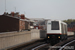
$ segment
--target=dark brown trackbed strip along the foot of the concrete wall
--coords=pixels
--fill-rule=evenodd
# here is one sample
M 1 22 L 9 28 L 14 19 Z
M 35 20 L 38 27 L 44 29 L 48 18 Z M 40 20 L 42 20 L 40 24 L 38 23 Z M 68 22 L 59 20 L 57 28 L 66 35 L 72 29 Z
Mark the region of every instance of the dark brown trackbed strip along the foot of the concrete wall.
M 19 44 L 16 47 L 14 46 L 12 48 L 9 48 L 8 50 L 29 50 L 32 47 L 34 47 L 34 45 L 36 46 L 36 44 L 38 45 L 41 44 L 40 42 L 41 40 L 43 39 L 31 40 L 31 41 Z

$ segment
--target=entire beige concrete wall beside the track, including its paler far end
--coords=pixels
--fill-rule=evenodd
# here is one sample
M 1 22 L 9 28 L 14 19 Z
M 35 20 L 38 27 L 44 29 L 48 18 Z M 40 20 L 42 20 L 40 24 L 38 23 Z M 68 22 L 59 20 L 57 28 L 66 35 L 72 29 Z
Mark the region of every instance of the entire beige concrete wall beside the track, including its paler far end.
M 43 33 L 43 36 L 40 36 Z M 0 50 L 16 47 L 19 44 L 29 42 L 31 40 L 38 40 L 41 37 L 44 37 L 46 34 L 42 30 L 31 30 L 31 31 L 22 31 L 22 32 L 7 32 L 0 34 Z

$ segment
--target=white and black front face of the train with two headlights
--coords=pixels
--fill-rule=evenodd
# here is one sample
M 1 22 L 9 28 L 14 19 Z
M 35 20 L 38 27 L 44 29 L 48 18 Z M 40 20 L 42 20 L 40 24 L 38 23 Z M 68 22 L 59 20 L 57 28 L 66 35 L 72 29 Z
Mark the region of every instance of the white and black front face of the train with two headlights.
M 61 39 L 60 21 L 47 22 L 47 42 L 56 43 Z

